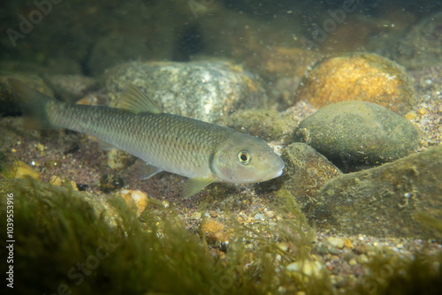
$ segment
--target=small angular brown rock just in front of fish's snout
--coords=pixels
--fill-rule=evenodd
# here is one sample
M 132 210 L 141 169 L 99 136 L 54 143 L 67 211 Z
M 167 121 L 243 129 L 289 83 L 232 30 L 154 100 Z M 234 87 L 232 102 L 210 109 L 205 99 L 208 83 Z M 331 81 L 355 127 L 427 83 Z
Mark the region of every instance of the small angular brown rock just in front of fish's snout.
M 282 189 L 293 194 L 301 208 L 309 204 L 324 183 L 342 175 L 324 155 L 305 143 L 296 142 L 286 147 L 281 158 L 286 168 L 284 174 L 275 181 Z

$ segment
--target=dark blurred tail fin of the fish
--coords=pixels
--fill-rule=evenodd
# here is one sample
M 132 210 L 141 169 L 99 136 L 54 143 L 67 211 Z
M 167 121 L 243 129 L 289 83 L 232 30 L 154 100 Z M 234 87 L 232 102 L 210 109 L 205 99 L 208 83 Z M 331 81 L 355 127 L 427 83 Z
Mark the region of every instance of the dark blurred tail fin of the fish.
M 27 84 L 18 79 L 8 79 L 8 82 L 14 92 L 20 109 L 25 115 L 25 124 L 27 127 L 34 129 L 53 128 L 48 119 L 46 106 L 48 102 L 54 99 L 50 96 L 43 95 L 41 92 L 35 90 L 33 87 L 27 86 Z

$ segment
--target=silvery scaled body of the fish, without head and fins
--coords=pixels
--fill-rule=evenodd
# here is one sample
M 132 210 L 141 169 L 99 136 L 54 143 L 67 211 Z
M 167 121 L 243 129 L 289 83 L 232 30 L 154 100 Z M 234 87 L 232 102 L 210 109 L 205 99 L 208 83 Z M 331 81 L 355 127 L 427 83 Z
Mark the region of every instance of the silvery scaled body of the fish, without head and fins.
M 133 114 L 127 110 L 59 102 L 50 103 L 46 110 L 51 114 L 52 125 L 87 133 L 162 170 L 186 177 L 207 175 L 210 155 L 234 132 L 166 113 Z

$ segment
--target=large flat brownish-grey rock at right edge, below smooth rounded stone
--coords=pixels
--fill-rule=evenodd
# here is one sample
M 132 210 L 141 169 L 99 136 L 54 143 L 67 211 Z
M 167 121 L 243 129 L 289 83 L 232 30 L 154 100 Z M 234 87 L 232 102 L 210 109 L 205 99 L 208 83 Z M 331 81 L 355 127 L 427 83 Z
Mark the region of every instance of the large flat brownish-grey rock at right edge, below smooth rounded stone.
M 442 147 L 331 179 L 305 208 L 321 229 L 348 235 L 436 238 L 421 220 L 442 212 Z

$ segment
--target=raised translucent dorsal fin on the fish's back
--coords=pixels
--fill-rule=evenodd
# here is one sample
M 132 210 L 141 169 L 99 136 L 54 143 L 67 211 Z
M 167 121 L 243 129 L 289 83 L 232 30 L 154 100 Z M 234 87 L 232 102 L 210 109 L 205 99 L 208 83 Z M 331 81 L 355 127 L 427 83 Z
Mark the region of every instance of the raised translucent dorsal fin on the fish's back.
M 140 88 L 131 84 L 126 88 L 118 103 L 118 108 L 123 110 L 130 110 L 135 114 L 141 112 L 148 112 L 152 114 L 159 114 L 161 111 L 156 108 L 154 102 L 150 100 L 148 95 L 141 92 Z

